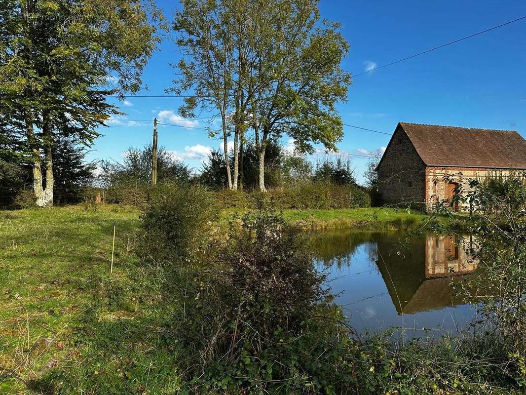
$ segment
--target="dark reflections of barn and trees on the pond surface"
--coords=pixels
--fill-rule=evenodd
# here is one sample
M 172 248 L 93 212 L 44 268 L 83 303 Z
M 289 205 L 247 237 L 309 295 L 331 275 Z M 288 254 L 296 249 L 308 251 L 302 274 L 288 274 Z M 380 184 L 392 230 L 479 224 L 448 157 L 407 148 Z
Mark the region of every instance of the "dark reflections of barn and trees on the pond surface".
M 325 267 L 350 267 L 353 255 L 362 246 L 372 267 L 386 284 L 398 313 L 414 313 L 462 303 L 450 288 L 451 281 L 477 268 L 466 264 L 466 253 L 455 248 L 450 236 L 412 236 L 400 243 L 398 232 L 318 232 L 311 235 L 311 248 Z

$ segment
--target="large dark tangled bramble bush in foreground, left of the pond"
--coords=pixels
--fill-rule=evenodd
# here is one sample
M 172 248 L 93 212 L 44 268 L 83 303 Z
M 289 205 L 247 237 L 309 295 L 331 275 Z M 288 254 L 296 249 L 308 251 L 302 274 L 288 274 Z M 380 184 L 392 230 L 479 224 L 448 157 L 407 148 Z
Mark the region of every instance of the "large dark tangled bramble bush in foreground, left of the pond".
M 228 242 L 194 276 L 178 330 L 193 391 L 320 392 L 352 380 L 335 365 L 338 350 L 326 352 L 350 341 L 346 328 L 313 318 L 334 315 L 321 308 L 325 276 L 281 216 L 261 209 L 232 221 Z

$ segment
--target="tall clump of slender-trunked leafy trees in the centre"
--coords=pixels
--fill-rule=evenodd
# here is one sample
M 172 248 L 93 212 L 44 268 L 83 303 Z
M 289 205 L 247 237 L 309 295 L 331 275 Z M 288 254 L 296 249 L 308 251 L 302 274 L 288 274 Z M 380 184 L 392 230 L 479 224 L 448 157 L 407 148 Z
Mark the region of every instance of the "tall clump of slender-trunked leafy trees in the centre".
M 177 65 L 174 90 L 195 94 L 180 113 L 219 111 L 229 187 L 238 185 L 239 145 L 249 127 L 261 190 L 270 139 L 285 133 L 302 151 L 311 150 L 311 142 L 335 149 L 342 136 L 335 104 L 345 100 L 350 83 L 339 67 L 348 45 L 337 24 L 319 21 L 317 0 L 185 0 L 175 19 L 187 59 Z

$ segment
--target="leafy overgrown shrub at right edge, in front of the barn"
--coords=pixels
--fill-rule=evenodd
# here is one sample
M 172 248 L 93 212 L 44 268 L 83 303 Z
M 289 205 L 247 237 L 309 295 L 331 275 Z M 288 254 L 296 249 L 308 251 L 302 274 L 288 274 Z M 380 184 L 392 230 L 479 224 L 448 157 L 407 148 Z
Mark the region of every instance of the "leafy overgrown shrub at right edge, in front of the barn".
M 525 366 L 526 354 L 526 185 L 522 173 L 494 175 L 471 180 L 467 188 L 453 197 L 468 204 L 470 215 L 463 232 L 434 224 L 435 231 L 456 232 L 460 248 L 466 249 L 479 266 L 479 274 L 470 277 L 460 289 L 466 299 L 477 305 L 479 317 L 498 333 L 510 356 Z M 456 218 L 444 201 L 435 215 Z M 469 292 L 477 290 L 477 292 Z M 525 371 L 526 373 L 526 371 Z M 523 383 L 524 384 L 524 383 Z

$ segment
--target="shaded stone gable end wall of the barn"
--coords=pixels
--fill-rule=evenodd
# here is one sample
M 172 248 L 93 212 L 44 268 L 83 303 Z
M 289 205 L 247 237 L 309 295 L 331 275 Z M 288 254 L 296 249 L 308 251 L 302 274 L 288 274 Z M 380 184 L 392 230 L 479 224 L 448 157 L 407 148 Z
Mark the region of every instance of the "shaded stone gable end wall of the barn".
M 378 167 L 378 192 L 383 204 L 420 208 L 426 202 L 425 166 L 406 132 L 398 127 Z

